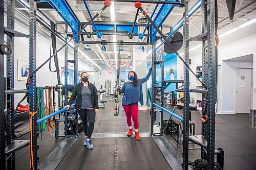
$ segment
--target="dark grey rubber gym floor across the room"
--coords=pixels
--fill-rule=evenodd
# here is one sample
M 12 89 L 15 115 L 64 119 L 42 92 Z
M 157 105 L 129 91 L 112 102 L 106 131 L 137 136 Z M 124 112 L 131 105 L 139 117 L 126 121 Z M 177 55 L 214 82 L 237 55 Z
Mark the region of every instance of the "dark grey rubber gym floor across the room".
M 105 109 L 100 109 L 96 115 L 95 134 L 124 134 L 126 132 L 126 117 L 122 107 L 119 116 L 113 116 L 114 102 L 108 102 Z M 172 107 L 165 108 L 172 110 Z M 140 132 L 145 136 L 150 133 L 150 115 L 148 110 L 139 111 Z M 180 112 L 176 112 L 180 115 Z M 164 119 L 169 115 L 165 113 Z M 200 113 L 191 113 L 192 121 L 196 123 L 196 135 L 201 134 Z M 215 146 L 225 150 L 225 169 L 256 169 L 256 128 L 249 125 L 249 114 L 217 115 Z M 158 149 L 152 137 L 142 137 L 137 141 L 134 137 L 124 138 L 93 138 L 94 148 L 88 150 L 83 145 L 83 134 L 75 140 L 73 146 L 59 164 L 56 160 L 60 155 L 54 151 L 67 142 L 67 139 L 55 139 L 54 131 L 46 131 L 37 139 L 39 144 L 38 165 L 40 169 L 171 169 L 164 156 Z M 171 141 L 167 136 L 164 136 Z M 19 139 L 28 139 L 26 134 Z M 172 152 L 181 151 L 174 148 Z M 55 149 L 56 148 L 56 149 Z M 29 169 L 29 147 L 16 152 L 16 168 Z M 62 153 L 63 154 L 63 153 Z M 189 150 L 189 159 L 194 161 L 200 158 L 200 150 Z M 52 160 L 52 161 L 51 161 Z M 52 165 L 54 164 L 54 165 Z

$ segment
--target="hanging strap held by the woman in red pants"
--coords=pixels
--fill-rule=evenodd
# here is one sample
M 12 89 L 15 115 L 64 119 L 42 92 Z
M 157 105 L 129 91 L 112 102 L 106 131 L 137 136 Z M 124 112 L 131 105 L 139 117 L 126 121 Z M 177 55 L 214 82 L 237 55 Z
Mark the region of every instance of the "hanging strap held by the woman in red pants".
M 121 65 L 121 55 L 120 55 L 120 47 L 121 47 L 121 41 L 119 41 L 119 52 L 118 52 L 118 59 L 117 59 L 117 81 L 116 86 L 119 85 L 119 77 L 120 77 L 120 65 Z M 119 89 L 116 89 L 115 91 L 115 107 L 114 107 L 114 116 L 118 116 L 119 114 Z

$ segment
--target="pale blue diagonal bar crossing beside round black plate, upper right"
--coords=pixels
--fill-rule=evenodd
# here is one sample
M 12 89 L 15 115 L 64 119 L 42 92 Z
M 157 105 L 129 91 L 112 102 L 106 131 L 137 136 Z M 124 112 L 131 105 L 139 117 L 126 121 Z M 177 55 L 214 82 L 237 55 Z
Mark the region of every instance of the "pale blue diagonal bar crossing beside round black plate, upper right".
M 198 2 L 188 11 L 188 17 L 193 15 L 200 7 L 202 6 L 201 0 L 198 0 Z M 181 27 L 183 27 L 183 18 L 181 18 L 176 25 L 173 27 L 173 31 L 166 37 L 166 39 L 169 39 L 171 36 L 173 36 Z M 158 48 L 165 43 L 165 40 L 163 40 L 156 48 L 152 51 L 152 53 L 156 52 Z

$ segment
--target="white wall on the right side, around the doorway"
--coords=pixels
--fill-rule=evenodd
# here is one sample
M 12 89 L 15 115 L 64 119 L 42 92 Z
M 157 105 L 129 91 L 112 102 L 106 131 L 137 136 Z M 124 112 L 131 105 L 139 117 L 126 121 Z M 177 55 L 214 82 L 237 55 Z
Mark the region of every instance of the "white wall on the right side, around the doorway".
M 253 11 L 242 18 L 252 19 L 255 18 L 256 11 Z M 228 30 L 236 28 L 245 20 L 237 20 L 230 23 L 228 26 L 220 29 L 218 34 L 221 35 Z M 253 69 L 253 85 L 256 85 L 256 23 L 252 23 L 250 26 L 239 29 L 227 36 L 220 38 L 220 45 L 218 47 L 218 64 L 221 65 L 218 70 L 218 113 L 230 114 L 234 113 L 234 74 L 236 67 L 247 67 Z M 200 43 L 200 42 L 199 42 Z M 199 44 L 198 43 L 198 44 Z M 190 52 L 189 58 L 191 58 L 191 69 L 196 70 L 197 65 L 202 64 L 201 48 Z M 253 63 L 248 62 L 233 62 L 230 66 L 224 60 L 237 58 L 246 55 L 253 55 Z M 183 75 L 183 63 L 178 59 L 178 78 Z M 190 88 L 195 88 L 196 78 L 190 73 Z M 191 96 L 195 95 L 193 93 Z M 256 108 L 256 91 L 252 91 L 252 108 Z

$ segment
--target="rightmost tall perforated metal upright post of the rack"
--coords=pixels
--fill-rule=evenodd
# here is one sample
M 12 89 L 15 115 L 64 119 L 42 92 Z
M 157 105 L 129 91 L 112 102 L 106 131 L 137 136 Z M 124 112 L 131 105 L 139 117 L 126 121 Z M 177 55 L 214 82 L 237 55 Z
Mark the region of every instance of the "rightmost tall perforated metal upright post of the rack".
M 215 160 L 215 104 L 216 104 L 216 47 L 215 47 L 215 0 L 207 1 L 207 82 L 208 117 L 207 125 L 207 162 L 208 169 L 214 169 Z

